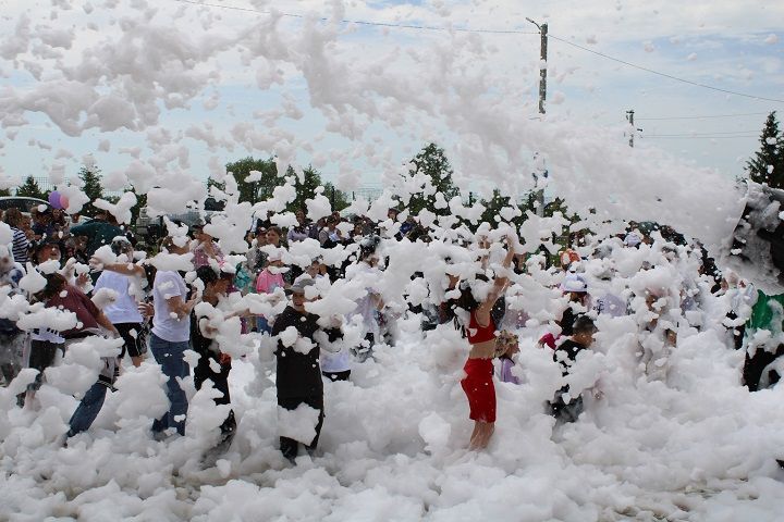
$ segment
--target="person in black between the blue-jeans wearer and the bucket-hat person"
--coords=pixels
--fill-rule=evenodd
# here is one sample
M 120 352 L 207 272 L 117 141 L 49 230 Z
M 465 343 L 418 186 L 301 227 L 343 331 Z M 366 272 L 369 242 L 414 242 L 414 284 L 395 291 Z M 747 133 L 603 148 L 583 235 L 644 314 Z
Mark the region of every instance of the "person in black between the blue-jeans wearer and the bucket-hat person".
M 226 272 L 218 274 L 215 269 L 206 265 L 200 266 L 196 271 L 196 275 L 205 285 L 201 300 L 217 307 L 221 296 L 225 296 L 229 291 L 233 279 L 232 274 Z M 207 324 L 207 319 L 199 318 L 195 311 L 192 313 L 191 344 L 194 351 L 200 356 L 194 369 L 194 385 L 196 389 L 201 389 L 204 383 L 210 381 L 212 386 L 222 394 L 221 397 L 215 398 L 216 405 L 231 405 L 231 396 L 229 395 L 231 357 L 220 351 L 218 343 L 212 338 L 215 328 Z M 221 424 L 220 430 L 221 437 L 218 447 L 228 447 L 236 430 L 234 410 L 229 411 L 229 415 Z

